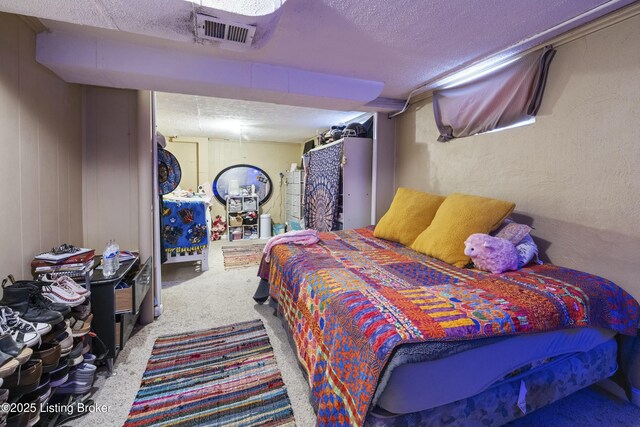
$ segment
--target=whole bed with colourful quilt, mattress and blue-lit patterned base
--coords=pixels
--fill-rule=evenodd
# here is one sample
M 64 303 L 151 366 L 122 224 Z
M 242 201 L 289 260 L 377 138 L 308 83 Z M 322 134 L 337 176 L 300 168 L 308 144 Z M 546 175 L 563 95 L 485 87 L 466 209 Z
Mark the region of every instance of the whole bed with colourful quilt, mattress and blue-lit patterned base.
M 276 246 L 261 284 L 311 388 L 317 425 L 501 425 L 611 376 L 638 303 L 536 265 L 457 268 L 371 227 Z

